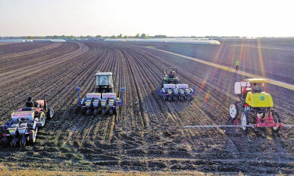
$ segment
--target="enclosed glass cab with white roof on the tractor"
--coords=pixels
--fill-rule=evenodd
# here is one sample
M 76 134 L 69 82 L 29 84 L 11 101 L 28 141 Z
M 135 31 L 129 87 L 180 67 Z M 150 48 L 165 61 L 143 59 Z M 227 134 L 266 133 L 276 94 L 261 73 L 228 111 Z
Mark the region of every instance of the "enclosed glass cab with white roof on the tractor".
M 94 75 L 96 77 L 95 93 L 114 92 L 113 78 L 111 72 L 100 72 Z

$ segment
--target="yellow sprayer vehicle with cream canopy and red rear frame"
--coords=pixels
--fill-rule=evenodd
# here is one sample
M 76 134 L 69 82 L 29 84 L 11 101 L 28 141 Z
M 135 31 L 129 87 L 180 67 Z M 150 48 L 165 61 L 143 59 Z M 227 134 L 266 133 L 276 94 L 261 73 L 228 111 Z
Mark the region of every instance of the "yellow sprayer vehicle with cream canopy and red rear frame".
M 273 100 L 267 93 L 267 82 L 268 80 L 262 78 L 250 78 L 235 83 L 235 96 L 239 100 L 230 104 L 229 114 L 231 120 L 238 123 L 236 119 L 241 108 L 241 125 L 244 131 L 248 130 L 250 113 L 254 113 L 257 121 L 254 127 L 272 127 L 273 131 L 278 131 L 283 126 L 278 112 L 271 109 Z M 253 85 L 250 86 L 250 83 Z

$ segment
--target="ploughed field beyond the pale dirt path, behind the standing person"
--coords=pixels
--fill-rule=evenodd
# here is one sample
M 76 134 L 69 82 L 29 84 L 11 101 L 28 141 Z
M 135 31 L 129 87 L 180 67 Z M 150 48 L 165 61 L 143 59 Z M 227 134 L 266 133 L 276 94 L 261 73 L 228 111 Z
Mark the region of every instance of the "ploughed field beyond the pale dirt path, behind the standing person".
M 160 42 L 119 42 L 119 44 L 153 46 L 233 69 L 238 59 L 240 71 L 294 84 L 293 39 L 224 39 L 219 41 L 220 45 Z

